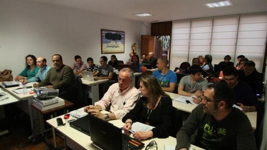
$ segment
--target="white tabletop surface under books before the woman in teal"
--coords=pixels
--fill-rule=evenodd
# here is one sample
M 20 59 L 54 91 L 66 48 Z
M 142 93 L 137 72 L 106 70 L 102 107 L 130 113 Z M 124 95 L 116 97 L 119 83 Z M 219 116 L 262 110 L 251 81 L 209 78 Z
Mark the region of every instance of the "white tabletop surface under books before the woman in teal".
M 35 83 L 35 82 L 32 82 L 32 84 L 29 84 L 28 86 L 32 86 L 33 83 Z M 23 94 L 23 93 L 17 94 L 17 93 L 15 93 L 15 92 L 12 91 L 12 90 L 15 90 L 17 88 L 22 88 L 22 85 L 11 87 L 11 88 L 5 88 L 2 85 L 2 82 L 0 82 L 0 86 L 2 86 L 8 93 L 10 93 L 11 95 L 15 96 L 16 98 L 19 98 L 20 100 L 29 99 L 29 98 L 32 98 L 34 95 L 36 95 L 35 93 L 29 94 L 29 92 L 27 94 Z

